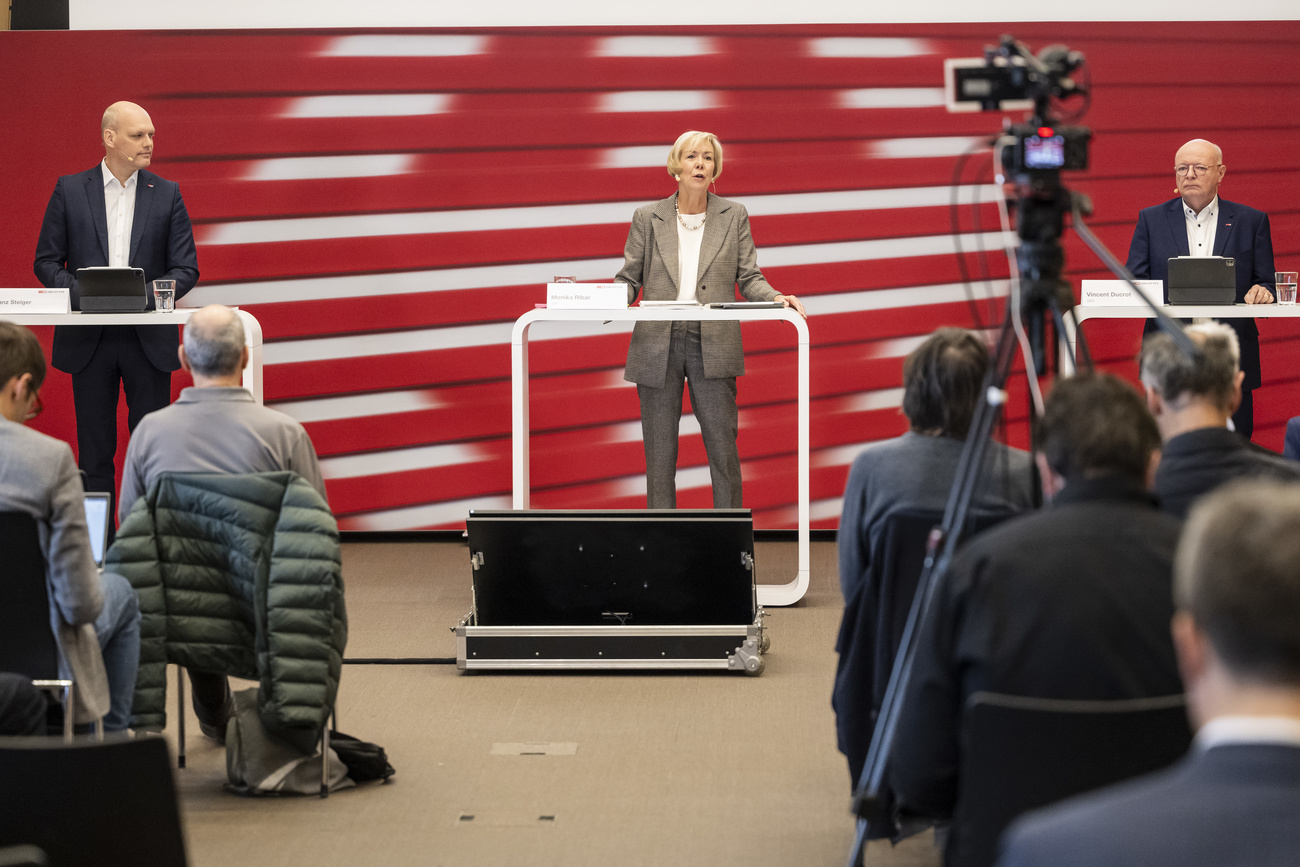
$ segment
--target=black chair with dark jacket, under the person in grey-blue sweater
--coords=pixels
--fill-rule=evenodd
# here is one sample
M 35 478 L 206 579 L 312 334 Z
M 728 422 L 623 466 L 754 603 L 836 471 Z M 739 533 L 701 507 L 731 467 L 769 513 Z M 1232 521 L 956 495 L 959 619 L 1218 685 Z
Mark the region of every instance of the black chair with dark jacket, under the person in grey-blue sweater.
M 1002 512 L 972 515 L 967 521 L 971 528 L 967 537 L 1008 517 L 1010 515 Z M 868 573 L 845 601 L 835 643 L 840 662 L 831 705 L 840 751 L 849 759 L 854 789 L 867 759 L 916 582 L 926 565 L 926 543 L 942 520 L 942 512 L 930 510 L 900 510 L 888 515 L 872 543 Z M 841 528 L 840 532 L 854 530 Z

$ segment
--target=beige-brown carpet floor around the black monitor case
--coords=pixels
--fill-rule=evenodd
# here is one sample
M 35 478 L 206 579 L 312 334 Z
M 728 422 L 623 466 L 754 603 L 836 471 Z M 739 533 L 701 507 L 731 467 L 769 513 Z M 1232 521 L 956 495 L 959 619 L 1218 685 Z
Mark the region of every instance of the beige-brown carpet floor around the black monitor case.
M 784 582 L 796 558 L 793 542 L 760 543 L 759 580 Z M 348 543 L 343 560 L 350 658 L 455 655 L 464 545 Z M 339 728 L 382 744 L 398 773 L 325 801 L 224 792 L 225 753 L 191 718 L 177 772 L 190 863 L 842 864 L 841 604 L 835 546 L 814 543 L 809 594 L 770 608 L 760 677 L 347 666 Z M 939 853 L 924 835 L 872 844 L 867 863 L 932 867 Z

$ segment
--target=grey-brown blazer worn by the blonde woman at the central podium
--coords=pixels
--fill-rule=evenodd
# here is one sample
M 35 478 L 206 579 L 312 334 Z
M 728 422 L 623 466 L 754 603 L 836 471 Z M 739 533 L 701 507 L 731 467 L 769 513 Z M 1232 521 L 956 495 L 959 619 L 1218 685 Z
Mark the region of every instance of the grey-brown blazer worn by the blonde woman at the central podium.
M 645 300 L 677 298 L 680 268 L 677 263 L 677 217 L 673 196 L 642 205 L 632 214 L 632 229 L 623 250 L 623 270 L 616 281 L 628 285 L 628 304 L 644 290 Z M 749 231 L 745 205 L 708 194 L 705 211 L 705 237 L 699 246 L 699 285 L 696 296 L 701 304 L 736 300 L 736 286 L 751 302 L 770 302 L 780 292 L 772 289 L 758 269 L 758 251 Z M 668 339 L 672 322 L 637 322 L 628 346 L 628 364 L 623 378 L 637 385 L 662 389 L 668 374 Z M 701 322 L 699 341 L 705 356 L 705 376 L 734 377 L 745 373 L 745 352 L 740 341 L 740 322 Z

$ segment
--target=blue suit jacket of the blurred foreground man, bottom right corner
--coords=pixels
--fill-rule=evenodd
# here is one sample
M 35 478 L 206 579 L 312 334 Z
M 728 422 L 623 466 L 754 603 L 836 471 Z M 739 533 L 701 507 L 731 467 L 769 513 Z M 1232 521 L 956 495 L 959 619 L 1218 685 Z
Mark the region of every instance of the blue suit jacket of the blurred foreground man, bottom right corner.
M 1300 853 L 1300 746 L 1192 747 L 1167 771 L 1027 814 L 1001 867 L 1282 867 Z

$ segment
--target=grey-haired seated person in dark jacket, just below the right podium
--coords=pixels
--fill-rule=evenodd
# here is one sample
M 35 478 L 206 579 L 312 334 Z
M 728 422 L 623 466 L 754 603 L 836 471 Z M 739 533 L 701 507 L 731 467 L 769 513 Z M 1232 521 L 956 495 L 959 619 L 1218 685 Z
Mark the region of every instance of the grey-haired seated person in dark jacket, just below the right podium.
M 1253 446 L 1227 429 L 1242 399 L 1236 333 L 1222 322 L 1190 325 L 1200 350 L 1188 357 L 1167 334 L 1143 341 L 1141 382 L 1147 406 L 1165 441 L 1156 497 L 1179 517 L 1192 502 L 1223 482 L 1245 476 L 1300 478 L 1300 465 Z

